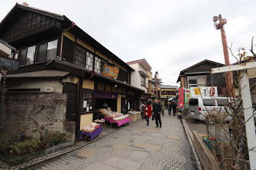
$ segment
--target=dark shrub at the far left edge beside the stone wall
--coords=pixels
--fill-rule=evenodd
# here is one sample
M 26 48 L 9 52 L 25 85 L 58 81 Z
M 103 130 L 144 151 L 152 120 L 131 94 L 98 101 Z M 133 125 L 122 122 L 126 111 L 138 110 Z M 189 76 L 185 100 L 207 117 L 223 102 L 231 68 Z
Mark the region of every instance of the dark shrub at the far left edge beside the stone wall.
M 20 137 L 17 134 L 0 134 L 0 153 L 8 153 L 11 145 L 19 140 Z

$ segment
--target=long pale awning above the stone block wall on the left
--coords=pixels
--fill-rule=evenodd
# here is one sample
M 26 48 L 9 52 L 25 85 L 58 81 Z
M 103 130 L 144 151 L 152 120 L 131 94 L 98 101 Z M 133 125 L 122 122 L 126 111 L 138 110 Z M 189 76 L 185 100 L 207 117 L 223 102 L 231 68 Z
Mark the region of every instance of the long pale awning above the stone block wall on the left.
M 7 78 L 35 78 L 35 77 L 64 77 L 70 72 L 63 72 L 60 70 L 44 70 L 38 72 L 28 72 L 28 73 L 15 73 L 11 75 L 6 75 Z

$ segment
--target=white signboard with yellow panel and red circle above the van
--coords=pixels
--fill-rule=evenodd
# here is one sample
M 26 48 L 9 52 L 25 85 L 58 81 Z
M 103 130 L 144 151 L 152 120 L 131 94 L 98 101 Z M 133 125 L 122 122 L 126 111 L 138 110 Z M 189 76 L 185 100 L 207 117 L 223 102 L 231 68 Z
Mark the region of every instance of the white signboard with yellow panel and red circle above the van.
M 217 87 L 190 88 L 191 97 L 218 97 Z

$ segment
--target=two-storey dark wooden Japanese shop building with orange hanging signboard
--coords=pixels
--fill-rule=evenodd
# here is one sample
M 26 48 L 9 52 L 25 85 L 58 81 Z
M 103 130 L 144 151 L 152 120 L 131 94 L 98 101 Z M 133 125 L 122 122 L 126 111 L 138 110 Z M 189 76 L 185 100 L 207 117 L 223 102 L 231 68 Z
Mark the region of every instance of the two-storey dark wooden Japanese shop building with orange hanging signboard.
M 19 50 L 8 92 L 67 93 L 65 119 L 77 131 L 103 102 L 118 112 L 139 109 L 144 91 L 131 86 L 131 66 L 65 15 L 17 3 L 0 23 L 0 39 Z

